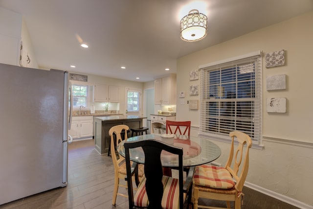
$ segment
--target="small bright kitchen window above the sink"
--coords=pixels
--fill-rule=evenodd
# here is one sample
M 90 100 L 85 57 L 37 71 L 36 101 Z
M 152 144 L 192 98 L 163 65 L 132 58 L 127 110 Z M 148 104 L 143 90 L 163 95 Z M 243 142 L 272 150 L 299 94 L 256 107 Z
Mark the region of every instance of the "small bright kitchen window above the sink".
M 88 101 L 88 86 L 81 84 L 72 84 L 73 89 L 73 108 L 80 106 L 87 107 Z

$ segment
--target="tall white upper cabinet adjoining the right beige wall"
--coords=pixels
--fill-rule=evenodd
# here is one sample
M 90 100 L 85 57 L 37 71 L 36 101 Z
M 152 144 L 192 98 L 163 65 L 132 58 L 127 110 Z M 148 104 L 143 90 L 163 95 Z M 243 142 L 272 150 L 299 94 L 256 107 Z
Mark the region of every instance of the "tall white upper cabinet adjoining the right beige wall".
M 155 104 L 176 105 L 176 74 L 155 80 Z

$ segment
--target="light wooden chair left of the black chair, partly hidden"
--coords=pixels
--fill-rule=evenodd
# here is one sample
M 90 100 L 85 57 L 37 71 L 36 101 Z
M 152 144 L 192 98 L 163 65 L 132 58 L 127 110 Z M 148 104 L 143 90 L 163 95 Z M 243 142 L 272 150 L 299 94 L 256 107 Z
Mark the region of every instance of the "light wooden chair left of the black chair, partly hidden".
M 127 131 L 129 127 L 127 125 L 116 125 L 110 128 L 109 135 L 111 136 L 111 156 L 114 165 L 114 189 L 113 189 L 113 198 L 112 198 L 112 205 L 115 205 L 117 195 L 128 197 L 125 194 L 118 193 L 119 186 L 127 188 L 127 182 L 125 182 L 126 176 L 126 164 L 125 158 L 115 153 L 115 147 L 122 141 L 122 135 L 124 135 L 124 139 L 127 140 Z M 115 146 L 114 146 L 114 135 L 115 138 Z M 136 167 L 137 170 L 134 170 L 134 175 L 132 176 L 132 180 L 136 181 L 136 184 L 139 183 L 140 179 L 142 179 L 144 175 L 144 168 L 143 165 L 139 165 Z M 120 184 L 120 180 L 124 181 L 125 184 Z

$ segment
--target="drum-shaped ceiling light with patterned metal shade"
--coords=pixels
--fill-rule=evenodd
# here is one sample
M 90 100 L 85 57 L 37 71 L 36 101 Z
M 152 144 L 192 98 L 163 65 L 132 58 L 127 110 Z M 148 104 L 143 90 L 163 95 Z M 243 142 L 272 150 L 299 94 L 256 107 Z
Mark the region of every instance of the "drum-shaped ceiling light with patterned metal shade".
M 207 17 L 199 10 L 190 10 L 189 14 L 180 20 L 180 38 L 187 42 L 203 39 L 207 34 Z

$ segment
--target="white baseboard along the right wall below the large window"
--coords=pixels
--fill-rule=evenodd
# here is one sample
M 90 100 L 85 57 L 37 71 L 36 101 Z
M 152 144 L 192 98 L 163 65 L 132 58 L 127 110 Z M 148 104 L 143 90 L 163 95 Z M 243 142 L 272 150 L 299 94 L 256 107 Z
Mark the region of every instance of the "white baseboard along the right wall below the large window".
M 285 195 L 282 195 L 282 194 L 279 194 L 277 192 L 271 191 L 271 190 L 269 190 L 267 188 L 254 185 L 254 184 L 249 183 L 249 182 L 245 182 L 245 186 L 249 187 L 249 188 L 251 188 L 253 190 L 256 190 L 258 192 L 261 192 L 261 193 L 263 193 L 265 195 L 268 195 L 270 197 L 273 197 L 273 198 L 275 198 L 277 200 L 280 200 L 280 201 L 283 201 L 285 203 L 288 203 L 288 204 L 290 204 L 292 206 L 295 206 L 295 207 L 297 207 L 299 209 L 313 209 L 313 206 L 307 205 L 307 204 L 305 204 L 303 202 L 300 202 L 298 200 L 292 199 L 291 197 L 287 197 Z

